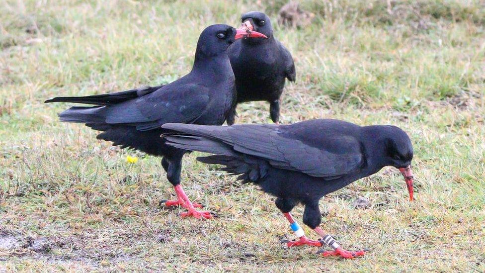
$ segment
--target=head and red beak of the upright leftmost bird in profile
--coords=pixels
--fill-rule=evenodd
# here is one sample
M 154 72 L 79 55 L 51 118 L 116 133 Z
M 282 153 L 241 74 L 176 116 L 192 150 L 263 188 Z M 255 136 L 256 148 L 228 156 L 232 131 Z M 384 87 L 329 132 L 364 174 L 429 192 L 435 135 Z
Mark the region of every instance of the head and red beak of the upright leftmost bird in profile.
M 216 56 L 226 51 L 235 40 L 241 38 L 267 38 L 265 35 L 248 30 L 235 29 L 225 24 L 216 24 L 206 27 L 199 36 L 197 52 L 206 56 Z

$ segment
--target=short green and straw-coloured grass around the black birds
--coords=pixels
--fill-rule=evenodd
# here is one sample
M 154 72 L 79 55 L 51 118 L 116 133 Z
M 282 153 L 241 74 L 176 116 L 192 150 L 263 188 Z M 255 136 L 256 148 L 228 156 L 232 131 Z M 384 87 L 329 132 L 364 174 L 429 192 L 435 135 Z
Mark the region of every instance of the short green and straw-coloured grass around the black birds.
M 172 194 L 160 159 L 97 141 L 57 120 L 66 105 L 43 104 L 173 81 L 205 26 L 237 25 L 253 9 L 275 24 L 285 2 L 0 0 L 0 272 L 485 271 L 481 1 L 304 0 L 311 25 L 275 25 L 297 68 L 283 123 L 395 124 L 413 140 L 415 202 L 385 169 L 320 203 L 323 229 L 370 249 L 363 259 L 285 249 L 280 238 L 293 235 L 273 198 L 197 154 L 182 184 L 219 218 L 182 220 L 160 206 Z M 237 122 L 270 122 L 267 110 L 240 105 Z M 353 208 L 359 196 L 370 208 Z

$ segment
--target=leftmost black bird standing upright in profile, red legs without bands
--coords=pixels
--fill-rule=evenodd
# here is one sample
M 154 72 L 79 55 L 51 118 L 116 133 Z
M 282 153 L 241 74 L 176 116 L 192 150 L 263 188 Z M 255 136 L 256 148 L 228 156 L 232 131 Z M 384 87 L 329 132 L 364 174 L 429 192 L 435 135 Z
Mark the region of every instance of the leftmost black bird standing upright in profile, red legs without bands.
M 167 122 L 221 125 L 236 103 L 234 73 L 228 47 L 240 38 L 265 37 L 256 31 L 229 25 L 211 25 L 199 36 L 192 71 L 168 85 L 84 97 L 56 97 L 46 102 L 95 104 L 71 107 L 59 114 L 62 121 L 85 123 L 103 131 L 97 139 L 112 141 L 122 148 L 133 148 L 161 156 L 167 179 L 178 200 L 165 205 L 181 205 L 188 212 L 181 216 L 210 218 L 209 212 L 196 211 L 180 186 L 182 156 L 187 152 L 165 145 L 160 134 Z

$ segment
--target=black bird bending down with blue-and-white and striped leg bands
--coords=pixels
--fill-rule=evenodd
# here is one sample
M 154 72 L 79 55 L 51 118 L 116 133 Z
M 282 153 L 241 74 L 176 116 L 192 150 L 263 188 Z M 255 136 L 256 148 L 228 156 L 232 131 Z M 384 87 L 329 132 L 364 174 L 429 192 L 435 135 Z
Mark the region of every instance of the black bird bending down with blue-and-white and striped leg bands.
M 167 145 L 215 154 L 197 159 L 224 165 L 222 170 L 240 175 L 243 182 L 253 182 L 276 196 L 276 206 L 299 238 L 288 242 L 289 247 L 325 243 L 334 250 L 324 251 L 323 256 L 364 255 L 363 251 L 342 249 L 319 227 L 319 200 L 385 166 L 401 171 L 412 200 L 412 145 L 406 133 L 396 126 L 361 127 L 340 120 L 317 119 L 279 126 L 167 123 L 162 128 L 175 131 L 164 135 Z M 303 223 L 322 237 L 319 241 L 307 239 L 291 216 L 290 211 L 298 203 L 305 205 Z

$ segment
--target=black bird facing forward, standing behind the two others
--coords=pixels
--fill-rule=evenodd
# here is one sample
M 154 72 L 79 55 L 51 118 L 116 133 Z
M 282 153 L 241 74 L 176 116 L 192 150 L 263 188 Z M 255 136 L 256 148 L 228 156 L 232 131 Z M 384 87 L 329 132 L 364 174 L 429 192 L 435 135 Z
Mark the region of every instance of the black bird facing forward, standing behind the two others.
M 295 81 L 295 64 L 290 52 L 273 36 L 269 17 L 259 11 L 251 11 L 241 17 L 242 27 L 263 33 L 268 39 L 244 39 L 229 49 L 229 58 L 236 76 L 238 103 L 265 100 L 274 123 L 279 123 L 280 96 L 285 79 Z M 236 111 L 228 124 L 234 123 Z

